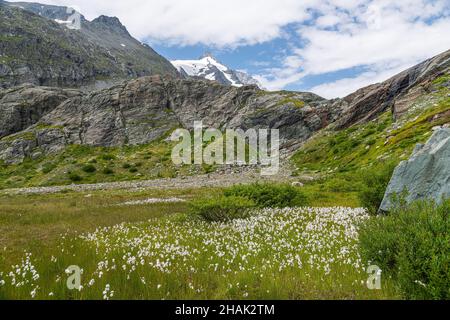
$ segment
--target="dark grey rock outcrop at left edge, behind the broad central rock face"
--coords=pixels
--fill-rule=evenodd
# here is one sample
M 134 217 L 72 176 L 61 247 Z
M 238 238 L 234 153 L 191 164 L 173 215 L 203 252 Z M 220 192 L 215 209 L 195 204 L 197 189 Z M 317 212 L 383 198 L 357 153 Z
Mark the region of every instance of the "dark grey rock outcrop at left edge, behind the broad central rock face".
M 30 84 L 0 89 L 0 138 L 28 128 L 61 102 L 80 94 L 77 90 L 35 87 Z

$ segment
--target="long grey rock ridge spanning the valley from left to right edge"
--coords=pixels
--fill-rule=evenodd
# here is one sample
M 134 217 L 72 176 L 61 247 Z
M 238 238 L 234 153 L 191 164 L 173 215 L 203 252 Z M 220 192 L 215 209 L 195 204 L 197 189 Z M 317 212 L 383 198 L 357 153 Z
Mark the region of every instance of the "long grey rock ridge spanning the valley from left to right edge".
M 7 115 L 3 118 L 14 118 L 7 121 L 15 124 L 4 130 L 3 135 L 9 135 L 0 140 L 0 159 L 17 163 L 33 154 L 48 154 L 72 144 L 146 144 L 174 128 L 191 128 L 199 120 L 205 126 L 222 129 L 280 129 L 282 148 L 293 151 L 328 126 L 341 129 L 365 123 L 389 108 L 399 118 L 412 106 L 407 102 L 417 100 L 411 95 L 432 91 L 433 81 L 448 75 L 449 56 L 447 51 L 384 83 L 333 101 L 310 93 L 271 93 L 256 86 L 238 88 L 170 76 L 143 77 L 84 96 L 29 86 L 2 91 L 0 97 L 5 102 L 0 110 Z M 54 99 L 56 103 L 39 109 L 42 92 L 54 94 L 55 90 L 68 99 L 57 106 L 64 98 Z M 19 107 L 14 97 L 20 97 Z M 34 118 L 24 111 L 30 106 L 37 109 Z

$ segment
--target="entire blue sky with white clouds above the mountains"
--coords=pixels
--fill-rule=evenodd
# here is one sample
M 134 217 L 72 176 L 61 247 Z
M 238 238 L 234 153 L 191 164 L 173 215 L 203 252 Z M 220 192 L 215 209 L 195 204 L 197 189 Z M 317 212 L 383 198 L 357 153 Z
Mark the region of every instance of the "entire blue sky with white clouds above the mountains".
M 170 60 L 213 53 L 270 90 L 342 97 L 450 49 L 450 0 L 42 0 L 117 16 Z

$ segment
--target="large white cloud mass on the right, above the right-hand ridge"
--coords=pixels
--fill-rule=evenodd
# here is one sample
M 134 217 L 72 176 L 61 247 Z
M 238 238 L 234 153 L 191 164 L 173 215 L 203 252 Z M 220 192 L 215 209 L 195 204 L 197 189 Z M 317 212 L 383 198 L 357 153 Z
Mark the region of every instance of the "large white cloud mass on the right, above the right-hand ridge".
M 280 68 L 259 75 L 265 87 L 280 89 L 308 75 L 365 69 L 353 78 L 312 88 L 328 98 L 343 96 L 450 48 L 447 0 L 373 0 L 355 4 L 350 10 L 328 7 L 319 12 L 324 15 L 316 23 L 298 30 L 306 44 L 286 56 Z

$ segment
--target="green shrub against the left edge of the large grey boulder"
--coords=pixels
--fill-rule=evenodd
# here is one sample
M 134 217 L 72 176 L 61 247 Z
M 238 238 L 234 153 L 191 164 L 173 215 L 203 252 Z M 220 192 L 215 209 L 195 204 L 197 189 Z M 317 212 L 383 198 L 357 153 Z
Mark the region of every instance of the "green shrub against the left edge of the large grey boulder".
M 371 214 L 378 212 L 395 166 L 395 163 L 390 162 L 361 171 L 362 185 L 358 198 Z

